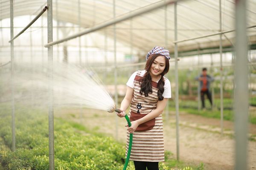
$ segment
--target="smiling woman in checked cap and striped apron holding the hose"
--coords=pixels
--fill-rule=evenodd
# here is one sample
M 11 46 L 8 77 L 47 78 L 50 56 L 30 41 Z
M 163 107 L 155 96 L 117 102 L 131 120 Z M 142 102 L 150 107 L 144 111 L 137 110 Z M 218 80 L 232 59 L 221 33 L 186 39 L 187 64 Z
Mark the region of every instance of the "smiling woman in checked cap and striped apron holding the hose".
M 133 143 L 130 160 L 135 170 L 158 170 L 158 162 L 164 161 L 162 112 L 168 98 L 171 98 L 171 85 L 166 77 L 169 71 L 169 51 L 154 47 L 146 55 L 145 70 L 136 71 L 126 83 L 127 91 L 117 116 L 125 116 L 130 105 L 131 127 L 127 128 L 126 156 L 130 133 Z

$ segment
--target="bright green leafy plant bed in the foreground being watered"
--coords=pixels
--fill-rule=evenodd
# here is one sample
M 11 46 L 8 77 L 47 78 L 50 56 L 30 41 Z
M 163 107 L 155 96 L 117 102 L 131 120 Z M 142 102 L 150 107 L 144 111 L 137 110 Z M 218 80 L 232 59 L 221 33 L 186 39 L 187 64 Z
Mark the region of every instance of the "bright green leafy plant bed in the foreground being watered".
M 11 105 L 0 104 L 0 161 L 6 170 L 48 170 L 47 111 L 18 106 L 15 110 L 16 151 L 12 146 Z M 125 161 L 125 144 L 113 138 L 90 132 L 86 127 L 54 119 L 56 170 L 121 170 Z M 168 155 L 168 154 L 167 154 Z M 160 170 L 180 167 L 166 156 Z M 184 166 L 185 167 L 185 166 Z M 127 170 L 134 170 L 132 161 Z M 190 170 L 190 169 L 189 169 Z

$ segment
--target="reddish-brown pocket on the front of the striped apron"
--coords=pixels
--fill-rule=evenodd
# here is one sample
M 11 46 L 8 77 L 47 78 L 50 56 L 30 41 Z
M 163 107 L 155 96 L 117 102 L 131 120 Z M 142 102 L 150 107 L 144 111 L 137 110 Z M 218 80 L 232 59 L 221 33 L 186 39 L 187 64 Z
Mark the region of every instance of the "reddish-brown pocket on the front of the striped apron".
M 146 115 L 147 114 L 140 114 L 140 113 L 135 113 L 135 112 L 131 111 L 130 120 L 132 122 L 132 121 L 138 120 Z M 151 129 L 153 129 L 155 122 L 156 122 L 156 118 L 151 119 L 148 122 L 144 122 L 144 123 L 140 124 L 135 131 L 151 130 Z

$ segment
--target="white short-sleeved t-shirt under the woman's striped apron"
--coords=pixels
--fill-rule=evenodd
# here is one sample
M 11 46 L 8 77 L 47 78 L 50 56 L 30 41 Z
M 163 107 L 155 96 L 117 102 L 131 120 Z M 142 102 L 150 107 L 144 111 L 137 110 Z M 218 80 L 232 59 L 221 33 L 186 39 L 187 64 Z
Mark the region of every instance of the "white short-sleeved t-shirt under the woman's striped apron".
M 134 88 L 134 79 L 137 75 L 138 71 L 135 71 L 131 77 L 128 79 L 128 82 L 126 83 L 126 85 L 128 85 L 131 88 Z M 145 70 L 141 71 L 140 76 L 143 77 L 143 75 L 145 74 Z M 157 80 L 158 82 L 159 80 Z M 172 90 L 171 90 L 171 83 L 169 81 L 169 79 L 166 79 L 164 82 L 164 91 L 163 91 L 163 98 L 171 98 L 172 97 Z

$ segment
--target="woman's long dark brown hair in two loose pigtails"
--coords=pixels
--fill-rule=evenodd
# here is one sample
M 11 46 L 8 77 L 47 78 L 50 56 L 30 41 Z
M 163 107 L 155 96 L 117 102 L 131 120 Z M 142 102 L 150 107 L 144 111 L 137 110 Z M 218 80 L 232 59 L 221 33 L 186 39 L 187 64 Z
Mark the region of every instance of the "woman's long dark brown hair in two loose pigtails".
M 149 74 L 149 71 L 150 71 L 150 68 L 151 68 L 151 65 L 152 63 L 154 62 L 154 60 L 158 57 L 158 56 L 163 56 L 161 54 L 151 54 L 149 57 L 148 57 L 148 60 L 146 62 L 146 65 L 145 65 L 145 70 L 146 70 L 146 73 L 144 74 L 143 78 L 142 78 L 142 83 L 140 85 L 140 94 L 142 95 L 143 92 L 144 92 L 144 95 L 145 97 L 148 96 L 148 93 L 152 93 L 152 85 L 151 85 L 151 76 Z M 163 100 L 163 91 L 164 91 L 164 79 L 163 79 L 163 76 L 169 71 L 169 59 L 167 59 L 165 56 L 165 61 L 166 61 L 166 66 L 163 70 L 163 72 L 161 73 L 161 79 L 159 80 L 159 82 L 157 83 L 157 88 L 158 88 L 158 91 L 157 91 L 157 96 L 158 96 L 158 99 L 159 100 Z

